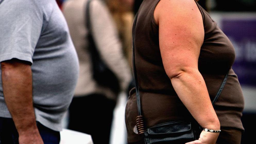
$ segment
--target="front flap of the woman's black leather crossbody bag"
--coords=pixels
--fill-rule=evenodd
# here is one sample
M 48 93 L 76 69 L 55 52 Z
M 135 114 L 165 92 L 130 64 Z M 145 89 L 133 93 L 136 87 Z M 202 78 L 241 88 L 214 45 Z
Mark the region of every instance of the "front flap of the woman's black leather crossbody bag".
M 190 122 L 169 122 L 153 126 L 147 129 L 150 135 L 155 134 L 181 134 L 191 131 Z

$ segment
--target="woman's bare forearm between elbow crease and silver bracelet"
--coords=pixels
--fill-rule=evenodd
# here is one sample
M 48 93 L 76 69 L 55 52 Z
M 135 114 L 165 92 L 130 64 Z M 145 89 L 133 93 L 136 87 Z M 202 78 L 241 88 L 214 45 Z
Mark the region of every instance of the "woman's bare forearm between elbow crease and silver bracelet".
M 206 84 L 198 70 L 180 71 L 171 82 L 178 97 L 203 128 L 220 129 Z

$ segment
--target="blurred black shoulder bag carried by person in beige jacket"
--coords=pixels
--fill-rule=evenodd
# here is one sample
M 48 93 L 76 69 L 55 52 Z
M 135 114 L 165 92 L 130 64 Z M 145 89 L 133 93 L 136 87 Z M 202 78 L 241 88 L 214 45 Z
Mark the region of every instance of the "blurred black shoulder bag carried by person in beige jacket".
M 90 24 L 90 2 L 86 3 L 86 27 L 88 29 L 88 41 L 89 41 L 89 51 L 91 54 L 93 78 L 97 81 L 100 86 L 110 88 L 115 95 L 120 92 L 120 84 L 116 75 L 108 68 L 108 66 L 101 59 L 101 56 L 95 45 L 95 41 L 92 37 L 92 30 Z

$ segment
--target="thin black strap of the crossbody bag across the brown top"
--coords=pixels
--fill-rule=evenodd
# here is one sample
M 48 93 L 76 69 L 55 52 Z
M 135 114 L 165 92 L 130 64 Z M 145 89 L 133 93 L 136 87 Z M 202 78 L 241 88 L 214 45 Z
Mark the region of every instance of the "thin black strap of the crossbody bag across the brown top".
M 140 90 L 139 90 L 139 83 L 138 83 L 138 76 L 137 76 L 137 71 L 136 71 L 136 66 L 135 66 L 135 47 L 134 47 L 134 38 L 135 38 L 135 28 L 136 28 L 136 22 L 137 22 L 137 14 L 134 18 L 134 22 L 133 22 L 133 27 L 132 27 L 132 39 L 133 39 L 133 75 L 134 75 L 134 80 L 135 80 L 135 84 L 136 84 L 136 98 L 137 98 L 137 107 L 138 107 L 138 112 L 139 112 L 139 116 L 142 115 L 141 113 L 141 102 L 140 102 Z M 223 80 L 223 82 L 221 83 L 221 86 L 219 88 L 219 91 L 217 92 L 217 95 L 215 96 L 214 100 L 212 100 L 212 105 L 214 106 L 214 104 L 216 103 L 217 99 L 220 96 L 221 91 L 223 90 L 227 78 L 228 78 L 228 73 L 229 70 L 227 72 L 227 74 L 225 75 L 225 78 Z

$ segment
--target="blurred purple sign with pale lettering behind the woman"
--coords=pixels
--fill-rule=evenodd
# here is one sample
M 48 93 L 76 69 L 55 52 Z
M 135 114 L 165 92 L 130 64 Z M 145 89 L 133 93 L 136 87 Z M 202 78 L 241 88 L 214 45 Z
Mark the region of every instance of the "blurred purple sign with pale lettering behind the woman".
M 233 69 L 240 83 L 256 86 L 256 19 L 223 19 L 222 30 L 235 47 Z

